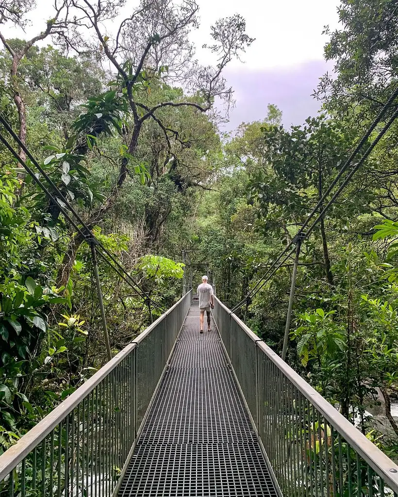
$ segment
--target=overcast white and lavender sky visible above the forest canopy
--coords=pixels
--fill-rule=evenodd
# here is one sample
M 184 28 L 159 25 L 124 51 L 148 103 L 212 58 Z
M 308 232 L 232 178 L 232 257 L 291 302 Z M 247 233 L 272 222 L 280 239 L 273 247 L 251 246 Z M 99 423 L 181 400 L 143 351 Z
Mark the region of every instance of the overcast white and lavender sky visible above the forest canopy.
M 227 130 L 242 121 L 263 119 L 268 103 L 282 110 L 285 126 L 301 124 L 317 113 L 319 102 L 311 93 L 318 78 L 331 69 L 323 60 L 327 38 L 321 33 L 325 24 L 337 27 L 338 0 L 197 1 L 201 26 L 192 33 L 192 40 L 199 61 L 208 63 L 208 55 L 200 47 L 210 41 L 209 27 L 220 17 L 238 12 L 246 19 L 247 34 L 256 39 L 243 56 L 244 64 L 234 61 L 225 73 L 236 99 Z M 41 31 L 49 16 L 50 0 L 36 3 L 28 35 Z M 6 36 L 22 37 L 23 33 L 8 29 Z

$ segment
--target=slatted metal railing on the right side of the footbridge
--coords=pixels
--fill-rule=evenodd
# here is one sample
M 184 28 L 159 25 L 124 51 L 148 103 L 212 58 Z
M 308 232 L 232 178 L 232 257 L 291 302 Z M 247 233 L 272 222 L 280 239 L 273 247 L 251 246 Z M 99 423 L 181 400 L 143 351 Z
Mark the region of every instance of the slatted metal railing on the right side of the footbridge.
M 214 317 L 289 497 L 397 497 L 398 466 L 216 299 Z

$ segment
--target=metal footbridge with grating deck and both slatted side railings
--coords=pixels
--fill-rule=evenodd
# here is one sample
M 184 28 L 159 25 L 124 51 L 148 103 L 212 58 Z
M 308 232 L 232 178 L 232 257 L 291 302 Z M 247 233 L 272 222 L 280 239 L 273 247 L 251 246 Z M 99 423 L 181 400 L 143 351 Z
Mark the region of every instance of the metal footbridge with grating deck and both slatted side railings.
M 391 496 L 398 466 L 190 289 L 0 456 L 0 496 Z

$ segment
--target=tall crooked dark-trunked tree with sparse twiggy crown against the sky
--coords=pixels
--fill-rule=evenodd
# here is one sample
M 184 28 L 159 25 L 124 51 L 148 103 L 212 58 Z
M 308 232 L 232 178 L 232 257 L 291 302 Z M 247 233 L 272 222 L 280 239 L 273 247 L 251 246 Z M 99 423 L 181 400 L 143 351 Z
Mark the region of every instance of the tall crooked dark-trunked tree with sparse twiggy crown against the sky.
M 193 0 L 184 0 L 178 6 L 170 0 L 142 0 L 139 7 L 121 22 L 113 34 L 105 34 L 102 23 L 115 15 L 115 8 L 121 2 L 72 0 L 71 3 L 79 15 L 70 25 L 70 31 L 62 33 L 62 36 L 71 45 L 71 40 L 85 26 L 95 34 L 101 54 L 110 61 L 117 73 L 114 96 L 126 101 L 130 116 L 123 131 L 127 150 L 120 160 L 118 177 L 107 199 L 87 220 L 92 226 L 94 222 L 101 222 L 114 206 L 129 174 L 130 163 L 134 163 L 144 124 L 152 120 L 159 126 L 171 155 L 171 142 L 178 141 L 179 132 L 162 122 L 160 110 L 192 107 L 198 112 L 206 112 L 211 109 L 216 97 L 230 102 L 232 89 L 227 86 L 222 72 L 253 39 L 245 33 L 245 21 L 238 14 L 217 21 L 211 32 L 214 44 L 209 48 L 216 54 L 218 64 L 216 67 L 202 68 L 191 62 L 192 46 L 186 41 L 190 29 L 197 25 L 198 6 Z M 92 45 L 86 48 L 93 49 Z M 173 99 L 163 99 L 155 105 L 148 105 L 147 99 L 142 98 L 142 90 L 144 94 L 148 94 L 152 91 L 152 85 L 158 85 L 168 77 L 183 79 L 197 98 L 183 99 L 175 96 Z M 59 272 L 59 284 L 68 280 L 71 264 L 81 242 L 81 238 L 77 236 L 68 248 Z

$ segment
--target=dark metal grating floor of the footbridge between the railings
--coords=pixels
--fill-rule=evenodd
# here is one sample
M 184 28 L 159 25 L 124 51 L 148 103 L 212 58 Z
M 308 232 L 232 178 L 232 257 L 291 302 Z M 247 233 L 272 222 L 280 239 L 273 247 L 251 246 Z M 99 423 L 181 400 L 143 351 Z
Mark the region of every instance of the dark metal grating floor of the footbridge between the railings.
M 277 496 L 219 334 L 199 333 L 195 301 L 122 482 L 127 496 Z

